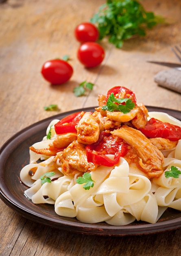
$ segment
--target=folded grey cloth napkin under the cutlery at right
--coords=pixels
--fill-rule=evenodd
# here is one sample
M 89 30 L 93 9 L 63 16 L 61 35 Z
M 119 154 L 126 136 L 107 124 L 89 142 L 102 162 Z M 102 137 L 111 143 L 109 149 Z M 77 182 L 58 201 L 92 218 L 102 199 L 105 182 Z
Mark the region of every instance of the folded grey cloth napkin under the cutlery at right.
M 165 88 L 181 93 L 181 71 L 170 68 L 158 72 L 154 81 Z

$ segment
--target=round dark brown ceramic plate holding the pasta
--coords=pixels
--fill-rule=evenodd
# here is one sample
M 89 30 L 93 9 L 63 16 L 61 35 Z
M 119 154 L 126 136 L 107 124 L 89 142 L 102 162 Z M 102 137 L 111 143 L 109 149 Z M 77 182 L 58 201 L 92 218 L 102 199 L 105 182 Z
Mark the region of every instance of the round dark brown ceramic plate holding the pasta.
M 85 111 L 94 111 L 94 108 L 85 108 Z M 181 112 L 166 108 L 148 107 L 149 111 L 166 112 L 181 120 Z M 173 209 L 161 216 L 155 224 L 147 222 L 133 222 L 126 226 L 111 226 L 105 222 L 98 224 L 85 224 L 76 218 L 58 216 L 54 206 L 49 204 L 33 204 L 24 196 L 27 187 L 21 183 L 20 170 L 29 163 L 29 149 L 33 143 L 40 141 L 46 134 L 46 128 L 52 119 L 61 119 L 74 110 L 44 119 L 15 134 L 0 149 L 0 198 L 10 208 L 25 218 L 48 225 L 52 228 L 78 232 L 81 234 L 94 234 L 102 236 L 130 236 L 141 234 L 154 234 L 181 227 L 181 212 Z

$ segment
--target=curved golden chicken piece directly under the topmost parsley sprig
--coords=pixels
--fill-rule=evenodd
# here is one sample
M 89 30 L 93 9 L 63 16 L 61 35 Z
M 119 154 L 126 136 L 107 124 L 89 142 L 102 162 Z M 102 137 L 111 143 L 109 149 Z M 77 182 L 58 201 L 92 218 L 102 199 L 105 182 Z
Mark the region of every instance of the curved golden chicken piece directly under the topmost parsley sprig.
M 128 122 L 128 121 L 132 120 L 139 112 L 139 108 L 135 107 L 127 114 L 124 114 L 120 111 L 114 111 L 114 112 L 106 111 L 106 112 L 107 112 L 107 117 L 109 119 L 111 119 L 113 121 L 118 121 L 118 122 L 124 123 L 124 122 Z

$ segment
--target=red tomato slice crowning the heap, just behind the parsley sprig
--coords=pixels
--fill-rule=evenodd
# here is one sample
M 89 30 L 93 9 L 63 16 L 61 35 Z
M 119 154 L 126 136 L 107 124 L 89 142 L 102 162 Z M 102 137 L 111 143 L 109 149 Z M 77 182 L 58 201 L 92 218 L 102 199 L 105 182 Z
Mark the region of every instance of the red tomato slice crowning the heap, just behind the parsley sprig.
M 118 99 L 118 98 L 122 98 L 122 95 L 124 93 L 124 98 L 129 98 L 131 99 L 135 104 L 137 102 L 136 100 L 136 96 L 135 93 L 131 90 L 129 90 L 128 88 L 124 87 L 124 86 L 115 86 L 113 88 L 111 88 L 108 92 L 107 92 L 107 98 L 109 98 L 110 94 L 113 93 L 114 96 Z M 120 96 L 120 97 L 119 97 Z

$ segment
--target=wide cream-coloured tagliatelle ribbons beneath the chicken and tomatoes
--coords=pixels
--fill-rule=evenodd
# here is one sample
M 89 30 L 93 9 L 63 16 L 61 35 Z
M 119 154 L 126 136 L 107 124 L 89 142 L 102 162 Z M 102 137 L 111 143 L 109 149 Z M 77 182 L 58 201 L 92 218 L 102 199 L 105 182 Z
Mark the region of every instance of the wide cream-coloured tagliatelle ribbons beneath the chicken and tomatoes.
M 165 113 L 148 112 L 148 116 L 181 127 L 181 121 Z M 53 120 L 47 129 L 48 134 L 52 127 L 51 140 L 44 137 L 33 145 L 35 148 L 47 148 L 57 138 L 56 122 L 57 119 Z M 181 177 L 165 176 L 171 166 L 181 171 L 181 140 L 175 145 L 161 150 L 163 173 L 159 177 L 150 177 L 139 167 L 139 157 L 135 152 L 129 151 L 114 166 L 99 165 L 88 171 L 94 186 L 86 190 L 84 184 L 77 183 L 77 178 L 83 175 L 81 167 L 74 175 L 65 173 L 64 162 L 61 162 L 63 150 L 50 157 L 30 150 L 30 164 L 20 172 L 22 182 L 29 187 L 24 194 L 35 204 L 55 204 L 55 212 L 59 216 L 77 218 L 85 223 L 104 221 L 118 226 L 135 220 L 155 223 L 168 207 L 181 211 Z M 113 159 L 114 156 L 108 154 L 107 157 Z M 41 184 L 40 177 L 52 171 L 52 181 Z

